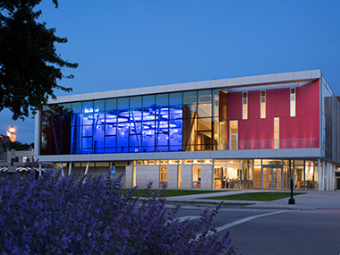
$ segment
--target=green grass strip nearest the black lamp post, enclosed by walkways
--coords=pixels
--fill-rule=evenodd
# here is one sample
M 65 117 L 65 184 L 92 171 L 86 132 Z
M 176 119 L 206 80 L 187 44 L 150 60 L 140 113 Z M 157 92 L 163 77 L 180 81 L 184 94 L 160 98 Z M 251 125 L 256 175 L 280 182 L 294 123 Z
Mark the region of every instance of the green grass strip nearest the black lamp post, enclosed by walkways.
M 293 195 L 302 195 L 306 192 L 294 192 Z M 250 192 L 235 195 L 204 198 L 205 200 L 246 200 L 246 201 L 273 201 L 289 198 L 291 192 Z

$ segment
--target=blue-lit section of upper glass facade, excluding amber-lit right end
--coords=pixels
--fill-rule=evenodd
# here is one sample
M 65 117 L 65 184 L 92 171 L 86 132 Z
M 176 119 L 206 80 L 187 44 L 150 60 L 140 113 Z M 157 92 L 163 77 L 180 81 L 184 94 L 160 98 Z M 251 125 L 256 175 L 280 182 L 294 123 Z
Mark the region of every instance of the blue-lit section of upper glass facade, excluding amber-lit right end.
M 49 107 L 54 111 L 54 121 L 50 123 L 54 126 L 46 137 L 57 154 L 182 150 L 183 92 Z M 45 115 L 52 112 L 44 111 Z

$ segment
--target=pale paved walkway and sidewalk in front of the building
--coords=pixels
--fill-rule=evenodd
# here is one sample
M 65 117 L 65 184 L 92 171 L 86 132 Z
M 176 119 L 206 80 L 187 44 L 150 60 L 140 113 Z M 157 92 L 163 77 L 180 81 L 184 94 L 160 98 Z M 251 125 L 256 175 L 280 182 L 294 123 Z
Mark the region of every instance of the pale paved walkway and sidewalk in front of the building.
M 168 201 L 193 201 L 193 202 L 220 202 L 221 200 L 205 200 L 208 197 L 234 195 L 246 192 L 268 192 L 268 191 L 225 191 L 217 193 L 196 194 L 179 197 L 168 197 Z M 276 191 L 280 192 L 280 191 Z M 282 192 L 282 191 L 281 191 Z M 266 208 L 266 209 L 338 209 L 340 211 L 340 191 L 302 191 L 307 194 L 294 196 L 295 204 L 289 205 L 289 198 L 274 201 L 245 201 L 224 200 L 228 203 L 253 203 L 253 205 L 242 208 Z

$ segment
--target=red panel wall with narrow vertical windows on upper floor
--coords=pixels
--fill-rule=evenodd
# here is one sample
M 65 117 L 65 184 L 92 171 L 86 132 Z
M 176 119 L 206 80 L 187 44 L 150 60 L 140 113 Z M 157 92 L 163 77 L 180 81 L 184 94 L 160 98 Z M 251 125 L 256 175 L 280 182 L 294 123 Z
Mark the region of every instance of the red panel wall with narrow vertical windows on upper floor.
M 238 120 L 239 149 L 273 149 L 274 118 L 280 118 L 280 149 L 319 147 L 319 81 L 296 88 L 296 116 L 290 116 L 290 89 L 266 90 L 266 118 L 260 118 L 260 90 L 248 92 L 248 119 L 242 120 L 242 92 L 228 94 L 228 121 Z

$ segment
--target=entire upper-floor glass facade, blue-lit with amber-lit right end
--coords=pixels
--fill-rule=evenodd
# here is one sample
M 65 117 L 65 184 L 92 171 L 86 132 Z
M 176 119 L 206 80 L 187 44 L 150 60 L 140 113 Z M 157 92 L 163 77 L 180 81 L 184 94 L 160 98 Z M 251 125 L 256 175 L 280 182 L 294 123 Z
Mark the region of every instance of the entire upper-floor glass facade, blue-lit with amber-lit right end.
M 219 127 L 224 94 L 203 89 L 44 106 L 40 154 L 218 149 L 226 135 L 224 120 Z

